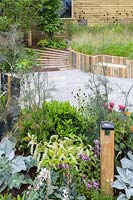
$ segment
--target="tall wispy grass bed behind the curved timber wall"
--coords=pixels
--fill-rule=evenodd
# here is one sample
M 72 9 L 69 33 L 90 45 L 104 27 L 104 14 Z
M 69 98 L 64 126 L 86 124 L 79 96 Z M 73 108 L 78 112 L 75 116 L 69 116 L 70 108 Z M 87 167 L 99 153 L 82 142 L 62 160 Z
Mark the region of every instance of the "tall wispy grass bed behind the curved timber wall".
M 88 54 L 107 54 L 133 59 L 133 25 L 104 25 L 81 28 L 76 25 L 71 48 Z

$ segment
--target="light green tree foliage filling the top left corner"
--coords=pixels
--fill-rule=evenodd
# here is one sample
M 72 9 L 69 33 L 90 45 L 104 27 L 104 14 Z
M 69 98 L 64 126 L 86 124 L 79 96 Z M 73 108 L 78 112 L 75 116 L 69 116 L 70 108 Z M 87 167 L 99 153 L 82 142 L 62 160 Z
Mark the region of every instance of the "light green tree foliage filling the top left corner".
M 38 20 L 38 12 L 42 9 L 40 0 L 4 0 L 0 2 L 0 26 L 2 31 L 8 31 L 15 24 L 21 30 L 28 30 L 30 25 Z M 5 25 L 4 25 L 5 22 Z

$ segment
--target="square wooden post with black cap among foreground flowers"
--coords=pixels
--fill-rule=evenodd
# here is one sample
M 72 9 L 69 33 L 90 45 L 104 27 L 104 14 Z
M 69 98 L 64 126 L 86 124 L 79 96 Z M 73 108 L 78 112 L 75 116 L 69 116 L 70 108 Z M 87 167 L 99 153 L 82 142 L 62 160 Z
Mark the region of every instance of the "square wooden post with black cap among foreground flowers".
M 113 196 L 111 182 L 114 180 L 114 125 L 111 122 L 101 122 L 100 140 L 101 190 L 104 194 Z

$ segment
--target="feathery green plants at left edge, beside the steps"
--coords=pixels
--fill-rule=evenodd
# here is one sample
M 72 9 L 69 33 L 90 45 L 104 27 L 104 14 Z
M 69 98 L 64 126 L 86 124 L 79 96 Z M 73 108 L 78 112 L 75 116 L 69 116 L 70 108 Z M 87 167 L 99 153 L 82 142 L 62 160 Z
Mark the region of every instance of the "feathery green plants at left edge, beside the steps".
M 18 72 L 27 70 L 35 63 L 35 52 L 23 46 L 23 35 L 15 27 L 0 35 L 0 71 Z

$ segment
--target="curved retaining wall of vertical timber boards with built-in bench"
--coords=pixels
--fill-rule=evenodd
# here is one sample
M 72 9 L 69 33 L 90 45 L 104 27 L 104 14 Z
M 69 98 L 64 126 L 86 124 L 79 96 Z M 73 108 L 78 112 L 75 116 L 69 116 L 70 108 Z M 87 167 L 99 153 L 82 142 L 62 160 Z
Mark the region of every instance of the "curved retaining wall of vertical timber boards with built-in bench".
M 86 55 L 70 48 L 70 65 L 74 68 L 111 77 L 133 78 L 133 60 L 110 55 Z

